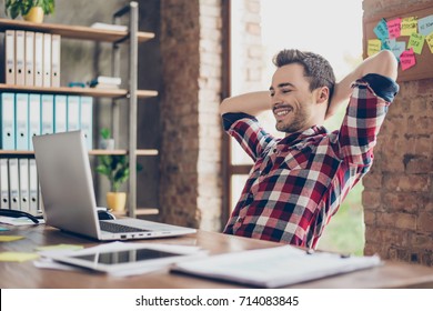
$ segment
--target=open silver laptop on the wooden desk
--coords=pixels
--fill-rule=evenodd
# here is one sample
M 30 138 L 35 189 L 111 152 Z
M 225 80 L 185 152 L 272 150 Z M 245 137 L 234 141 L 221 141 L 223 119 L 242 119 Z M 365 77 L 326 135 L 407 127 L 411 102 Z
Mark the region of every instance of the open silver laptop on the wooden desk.
M 84 133 L 32 138 L 47 224 L 99 241 L 177 237 L 195 229 L 134 218 L 99 220 Z

